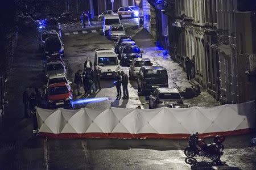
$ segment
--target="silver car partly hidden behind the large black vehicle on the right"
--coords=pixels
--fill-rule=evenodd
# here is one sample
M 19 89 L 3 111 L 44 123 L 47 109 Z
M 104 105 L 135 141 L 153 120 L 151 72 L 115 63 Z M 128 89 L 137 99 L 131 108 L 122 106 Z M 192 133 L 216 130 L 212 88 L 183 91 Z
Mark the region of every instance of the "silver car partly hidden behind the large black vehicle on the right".
M 129 69 L 130 79 L 135 79 L 138 77 L 139 70 L 142 66 L 152 66 L 150 59 L 148 58 L 134 58 L 131 62 Z

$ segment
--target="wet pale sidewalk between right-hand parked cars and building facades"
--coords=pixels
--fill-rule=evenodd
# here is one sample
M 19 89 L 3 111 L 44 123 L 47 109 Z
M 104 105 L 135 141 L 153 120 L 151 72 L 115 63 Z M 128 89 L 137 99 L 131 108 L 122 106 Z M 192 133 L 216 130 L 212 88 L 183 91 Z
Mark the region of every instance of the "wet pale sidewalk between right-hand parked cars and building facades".
M 143 58 L 150 58 L 154 65 L 164 66 L 168 73 L 169 87 L 177 88 L 179 91 L 185 90 L 186 87 L 195 85 L 194 83 L 187 82 L 187 74 L 179 63 L 175 62 L 171 56 L 163 56 L 163 49 L 158 48 L 154 43 L 154 38 L 142 29 L 133 39 L 140 46 L 143 53 Z M 214 107 L 220 105 L 217 100 L 213 98 L 203 87 L 200 86 L 201 95 L 193 99 L 184 99 L 185 104 L 197 107 Z

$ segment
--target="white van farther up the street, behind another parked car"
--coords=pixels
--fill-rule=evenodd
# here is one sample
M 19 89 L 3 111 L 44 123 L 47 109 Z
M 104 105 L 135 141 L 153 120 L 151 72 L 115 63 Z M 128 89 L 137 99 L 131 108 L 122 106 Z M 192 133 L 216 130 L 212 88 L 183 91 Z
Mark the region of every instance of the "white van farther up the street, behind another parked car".
M 102 31 L 104 36 L 108 35 L 110 25 L 119 25 L 121 24 L 118 15 L 108 15 L 104 16 L 104 20 L 102 23 Z

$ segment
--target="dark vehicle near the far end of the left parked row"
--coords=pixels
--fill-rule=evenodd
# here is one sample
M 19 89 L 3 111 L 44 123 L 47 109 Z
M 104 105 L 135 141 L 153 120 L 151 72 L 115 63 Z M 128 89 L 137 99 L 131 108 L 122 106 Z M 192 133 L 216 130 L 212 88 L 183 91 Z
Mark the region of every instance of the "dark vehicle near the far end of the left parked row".
M 60 39 L 48 37 L 45 42 L 44 56 L 60 56 L 64 57 L 64 44 Z

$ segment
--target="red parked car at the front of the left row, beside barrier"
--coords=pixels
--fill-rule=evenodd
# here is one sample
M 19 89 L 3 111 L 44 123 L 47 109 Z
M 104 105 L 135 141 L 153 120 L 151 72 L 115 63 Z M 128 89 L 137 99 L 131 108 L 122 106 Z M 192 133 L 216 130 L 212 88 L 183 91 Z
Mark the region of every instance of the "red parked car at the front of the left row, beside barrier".
M 67 83 L 55 83 L 47 88 L 47 108 L 72 108 L 71 86 Z

